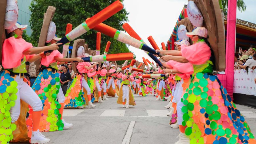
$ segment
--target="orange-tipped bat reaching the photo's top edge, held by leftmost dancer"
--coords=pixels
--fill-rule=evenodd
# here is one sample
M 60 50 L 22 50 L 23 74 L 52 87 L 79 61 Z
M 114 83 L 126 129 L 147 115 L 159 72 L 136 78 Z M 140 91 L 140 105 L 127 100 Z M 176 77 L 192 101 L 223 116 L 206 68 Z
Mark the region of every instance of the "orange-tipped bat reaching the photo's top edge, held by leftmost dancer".
M 87 19 L 83 23 L 81 23 L 79 26 L 77 26 L 75 29 L 73 29 L 70 33 L 65 35 L 65 37 L 61 38 L 61 40 L 58 43 L 68 43 L 69 41 L 73 41 L 75 38 L 79 37 L 80 35 L 83 35 L 93 27 L 97 26 L 99 23 L 105 21 L 118 11 L 123 9 L 123 4 L 117 0 L 113 2 L 111 5 L 107 6 L 105 9 L 101 10 L 100 12 L 96 13 L 94 16 L 92 16 L 90 19 Z

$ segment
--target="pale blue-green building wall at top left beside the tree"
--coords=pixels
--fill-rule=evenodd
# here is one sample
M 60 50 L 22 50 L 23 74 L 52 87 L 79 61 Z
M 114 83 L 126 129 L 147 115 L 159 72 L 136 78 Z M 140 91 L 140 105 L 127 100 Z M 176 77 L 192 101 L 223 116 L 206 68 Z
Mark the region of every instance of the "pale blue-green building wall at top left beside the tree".
M 27 35 L 31 35 L 32 30 L 29 25 L 29 19 L 31 15 L 31 11 L 29 11 L 29 6 L 32 0 L 18 0 L 18 7 L 19 7 L 19 17 L 18 22 L 22 25 L 28 25 L 26 31 Z

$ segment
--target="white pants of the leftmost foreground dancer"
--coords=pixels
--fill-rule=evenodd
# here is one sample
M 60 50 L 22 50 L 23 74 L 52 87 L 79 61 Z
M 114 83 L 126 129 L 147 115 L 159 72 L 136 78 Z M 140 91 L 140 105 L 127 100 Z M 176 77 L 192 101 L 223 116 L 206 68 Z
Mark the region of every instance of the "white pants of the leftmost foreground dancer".
M 15 101 L 15 105 L 11 107 L 10 113 L 11 113 L 11 122 L 14 123 L 18 120 L 20 112 L 21 112 L 21 103 L 20 100 L 25 101 L 27 104 L 29 104 L 33 111 L 42 111 L 43 110 L 43 104 L 38 95 L 33 91 L 33 89 L 23 81 L 23 78 L 20 78 L 20 76 L 16 76 L 14 79 L 17 83 L 17 89 L 18 92 L 16 93 L 17 99 Z

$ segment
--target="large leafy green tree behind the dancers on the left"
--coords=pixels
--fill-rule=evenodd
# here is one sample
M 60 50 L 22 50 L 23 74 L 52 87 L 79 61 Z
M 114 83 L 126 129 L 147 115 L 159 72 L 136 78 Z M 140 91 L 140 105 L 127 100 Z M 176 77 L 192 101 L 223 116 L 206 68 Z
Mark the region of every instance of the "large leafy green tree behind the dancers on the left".
M 43 25 L 43 14 L 46 12 L 48 6 L 56 7 L 56 11 L 53 17 L 53 22 L 56 24 L 56 34 L 58 37 L 65 36 L 65 30 L 67 23 L 73 25 L 73 29 L 80 25 L 88 17 L 92 17 L 97 12 L 101 11 L 115 0 L 33 0 L 29 7 L 31 19 L 29 23 L 33 30 L 31 34 L 31 42 L 33 45 L 37 45 L 41 27 Z M 121 0 L 122 2 L 123 0 Z M 123 30 L 123 23 L 129 21 L 128 12 L 125 8 L 104 21 L 103 23 L 114 27 L 118 30 Z M 85 39 L 89 44 L 89 48 L 96 49 L 96 33 L 95 30 L 90 30 L 87 33 L 81 35 L 77 39 Z M 104 52 L 107 41 L 111 41 L 109 53 L 127 53 L 130 52 L 127 45 L 116 41 L 115 39 L 101 34 L 101 53 Z M 73 45 L 73 42 L 70 44 Z M 59 49 L 62 51 L 62 48 Z M 122 61 L 117 61 L 121 64 Z

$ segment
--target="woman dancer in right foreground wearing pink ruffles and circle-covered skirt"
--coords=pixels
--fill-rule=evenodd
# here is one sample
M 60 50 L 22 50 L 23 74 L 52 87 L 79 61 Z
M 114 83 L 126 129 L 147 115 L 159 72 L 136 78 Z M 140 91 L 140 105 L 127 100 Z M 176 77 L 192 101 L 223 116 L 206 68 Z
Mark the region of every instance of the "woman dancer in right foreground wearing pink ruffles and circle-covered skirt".
M 182 45 L 181 51 L 162 57 L 165 61 L 189 62 L 194 68 L 189 88 L 179 102 L 183 105 L 180 111 L 183 115 L 178 117 L 183 121 L 179 123 L 181 133 L 177 143 L 256 143 L 227 90 L 212 75 L 214 59 L 207 29 L 197 27 L 187 36 L 195 42 L 193 45 Z

